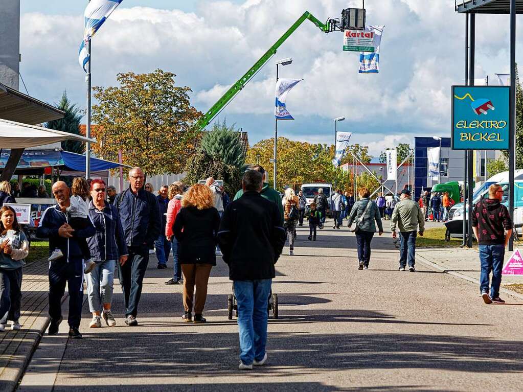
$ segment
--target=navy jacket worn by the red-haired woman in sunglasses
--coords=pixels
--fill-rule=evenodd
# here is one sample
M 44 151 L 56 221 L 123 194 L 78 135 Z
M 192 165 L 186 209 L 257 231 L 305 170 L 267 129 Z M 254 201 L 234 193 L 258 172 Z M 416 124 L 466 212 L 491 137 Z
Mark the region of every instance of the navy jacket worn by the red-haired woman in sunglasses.
M 120 256 L 128 254 L 120 215 L 114 205 L 105 202 L 104 210 L 100 211 L 91 201 L 89 218 L 96 229 L 95 235 L 87 238 L 91 260 L 95 262 L 118 260 Z

